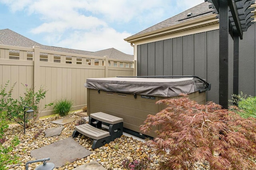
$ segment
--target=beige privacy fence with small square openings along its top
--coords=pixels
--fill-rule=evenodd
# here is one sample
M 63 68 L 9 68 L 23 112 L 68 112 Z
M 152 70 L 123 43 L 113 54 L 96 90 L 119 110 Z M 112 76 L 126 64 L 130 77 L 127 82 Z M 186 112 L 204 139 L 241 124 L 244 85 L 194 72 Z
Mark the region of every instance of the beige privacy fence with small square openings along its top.
M 45 104 L 61 98 L 71 99 L 73 109 L 87 104 L 84 83 L 87 78 L 134 76 L 134 61 L 110 59 L 74 53 L 64 53 L 33 48 L 0 45 L 0 84 L 10 80 L 8 89 L 16 82 L 12 98 L 24 95 L 24 86 L 40 86 L 48 90 L 40 103 L 40 117 L 50 115 L 52 107 Z

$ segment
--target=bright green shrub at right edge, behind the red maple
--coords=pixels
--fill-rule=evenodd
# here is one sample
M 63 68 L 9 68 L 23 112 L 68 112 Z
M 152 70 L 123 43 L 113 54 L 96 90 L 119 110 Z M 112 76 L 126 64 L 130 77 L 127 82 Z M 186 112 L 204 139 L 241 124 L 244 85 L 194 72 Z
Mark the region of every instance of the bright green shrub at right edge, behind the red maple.
M 234 109 L 236 113 L 238 113 L 243 118 L 248 117 L 254 117 L 256 118 L 256 97 L 255 96 L 248 96 L 246 97 L 246 94 L 243 94 L 243 92 L 240 92 L 240 94 L 232 95 L 232 100 L 230 102 L 233 102 L 238 106 L 238 109 Z M 230 107 L 233 108 L 233 107 Z

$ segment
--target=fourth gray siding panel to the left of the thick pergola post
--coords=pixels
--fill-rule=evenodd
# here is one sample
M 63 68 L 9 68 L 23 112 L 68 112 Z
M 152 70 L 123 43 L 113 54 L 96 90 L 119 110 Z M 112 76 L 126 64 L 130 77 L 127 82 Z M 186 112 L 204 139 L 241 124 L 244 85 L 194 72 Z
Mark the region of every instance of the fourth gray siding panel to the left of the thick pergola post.
M 182 75 L 182 37 L 172 39 L 172 75 Z

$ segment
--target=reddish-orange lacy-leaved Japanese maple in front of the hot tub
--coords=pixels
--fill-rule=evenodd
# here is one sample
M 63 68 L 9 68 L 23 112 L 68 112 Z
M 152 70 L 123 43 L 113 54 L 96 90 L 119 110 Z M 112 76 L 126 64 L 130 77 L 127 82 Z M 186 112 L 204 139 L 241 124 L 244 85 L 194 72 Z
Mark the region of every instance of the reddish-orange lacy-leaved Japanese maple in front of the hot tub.
M 147 141 L 159 156 L 168 158 L 162 170 L 189 170 L 198 160 L 207 160 L 210 170 L 256 170 L 248 158 L 256 156 L 256 119 L 242 118 L 213 102 L 198 104 L 182 98 L 160 100 L 167 107 L 148 115 L 143 132 L 160 125 L 156 138 Z

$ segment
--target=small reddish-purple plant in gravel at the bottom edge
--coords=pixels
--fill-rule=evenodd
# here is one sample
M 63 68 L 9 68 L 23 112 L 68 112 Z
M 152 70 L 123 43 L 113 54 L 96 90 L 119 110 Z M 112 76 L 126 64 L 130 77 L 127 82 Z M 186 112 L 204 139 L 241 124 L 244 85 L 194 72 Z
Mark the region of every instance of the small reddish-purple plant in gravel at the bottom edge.
M 130 161 L 128 159 L 125 159 L 122 162 L 122 167 L 126 168 L 128 170 L 146 170 L 148 167 L 149 161 L 141 161 L 139 159 Z

